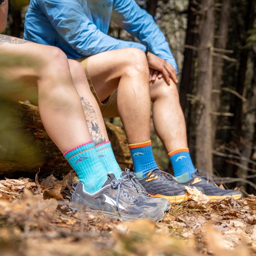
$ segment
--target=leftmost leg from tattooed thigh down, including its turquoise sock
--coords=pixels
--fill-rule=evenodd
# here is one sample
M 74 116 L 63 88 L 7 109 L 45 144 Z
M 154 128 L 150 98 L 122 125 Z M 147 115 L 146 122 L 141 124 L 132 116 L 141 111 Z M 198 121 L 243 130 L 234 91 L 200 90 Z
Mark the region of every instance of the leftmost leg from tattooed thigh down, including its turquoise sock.
M 78 174 L 86 191 L 98 191 L 107 178 L 107 171 L 99 161 L 91 141 L 67 57 L 58 48 L 18 38 L 0 35 L 1 37 L 7 39 L 7 42 L 0 45 L 1 53 L 23 55 L 40 61 L 38 68 L 20 68 L 19 72 L 16 68 L 8 68 L 6 74 L 12 78 L 16 76 L 16 79 L 31 75 L 37 78 L 39 112 L 46 131 L 61 152 L 65 152 L 64 157 Z M 9 39 L 12 41 L 8 41 Z

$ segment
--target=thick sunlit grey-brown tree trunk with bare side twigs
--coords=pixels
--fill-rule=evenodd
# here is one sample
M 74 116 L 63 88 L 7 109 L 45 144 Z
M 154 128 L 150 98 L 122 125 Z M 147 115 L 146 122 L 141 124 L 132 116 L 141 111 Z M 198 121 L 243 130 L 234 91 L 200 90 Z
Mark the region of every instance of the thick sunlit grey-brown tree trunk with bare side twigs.
M 202 12 L 198 46 L 196 166 L 212 176 L 211 91 L 214 0 L 203 0 Z

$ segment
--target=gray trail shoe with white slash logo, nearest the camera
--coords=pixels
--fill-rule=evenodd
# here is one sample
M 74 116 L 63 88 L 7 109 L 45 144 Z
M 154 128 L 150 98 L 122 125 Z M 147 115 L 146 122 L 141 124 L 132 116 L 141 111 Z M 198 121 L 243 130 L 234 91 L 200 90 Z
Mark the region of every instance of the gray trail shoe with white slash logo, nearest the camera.
M 158 222 L 164 218 L 163 208 L 159 204 L 148 203 L 137 197 L 138 192 L 129 174 L 116 179 L 113 173 L 109 173 L 102 188 L 94 194 L 87 193 L 82 182 L 74 182 L 73 188 L 72 210 L 99 212 L 122 221 L 148 219 Z

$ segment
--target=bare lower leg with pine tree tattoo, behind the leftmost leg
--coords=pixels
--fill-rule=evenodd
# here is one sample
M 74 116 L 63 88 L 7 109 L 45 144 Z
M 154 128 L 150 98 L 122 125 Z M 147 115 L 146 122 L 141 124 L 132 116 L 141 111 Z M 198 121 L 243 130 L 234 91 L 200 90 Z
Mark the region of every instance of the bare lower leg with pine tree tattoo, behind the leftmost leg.
M 91 139 L 95 145 L 109 140 L 99 105 L 91 93 L 84 69 L 75 60 L 68 60 L 72 79 L 80 96 Z

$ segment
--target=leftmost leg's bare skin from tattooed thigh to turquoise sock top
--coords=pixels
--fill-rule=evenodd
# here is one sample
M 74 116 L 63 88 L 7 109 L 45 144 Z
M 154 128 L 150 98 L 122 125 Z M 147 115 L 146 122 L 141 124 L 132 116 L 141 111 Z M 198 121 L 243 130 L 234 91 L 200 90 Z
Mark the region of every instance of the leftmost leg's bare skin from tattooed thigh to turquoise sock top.
M 9 39 L 16 41 L 10 44 Z M 91 140 L 67 57 L 60 49 L 0 35 L 0 51 L 40 61 L 41 67 L 33 74 L 38 82 L 40 116 L 50 138 L 61 152 Z M 16 75 L 15 68 L 8 72 Z

